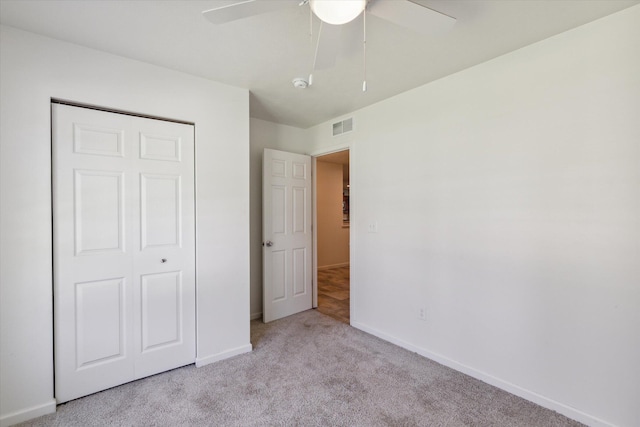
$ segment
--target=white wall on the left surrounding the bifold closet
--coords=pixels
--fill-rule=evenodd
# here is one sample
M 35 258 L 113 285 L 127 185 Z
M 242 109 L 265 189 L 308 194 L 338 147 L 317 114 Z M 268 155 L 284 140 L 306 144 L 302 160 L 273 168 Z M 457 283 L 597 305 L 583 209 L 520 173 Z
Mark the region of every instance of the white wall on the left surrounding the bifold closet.
M 0 423 L 55 410 L 52 97 L 195 123 L 197 363 L 250 351 L 248 92 L 1 31 Z

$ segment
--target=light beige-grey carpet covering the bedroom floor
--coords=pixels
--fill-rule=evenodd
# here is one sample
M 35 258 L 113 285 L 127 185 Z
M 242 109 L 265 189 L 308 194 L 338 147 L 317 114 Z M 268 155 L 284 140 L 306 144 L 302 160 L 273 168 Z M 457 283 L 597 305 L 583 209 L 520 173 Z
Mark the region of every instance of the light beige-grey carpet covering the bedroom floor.
M 317 311 L 252 322 L 252 353 L 69 402 L 25 426 L 577 426 Z

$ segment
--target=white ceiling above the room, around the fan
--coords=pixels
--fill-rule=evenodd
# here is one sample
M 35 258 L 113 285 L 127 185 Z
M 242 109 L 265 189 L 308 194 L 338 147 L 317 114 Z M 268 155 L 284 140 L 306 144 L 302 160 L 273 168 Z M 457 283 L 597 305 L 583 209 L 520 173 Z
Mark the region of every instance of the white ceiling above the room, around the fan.
M 0 22 L 247 88 L 252 117 L 307 128 L 640 3 L 414 1 L 456 25 L 426 37 L 368 16 L 366 93 L 361 19 L 344 26 L 336 66 L 316 71 L 308 89 L 293 87 L 311 67 L 308 6 L 216 26 L 201 12 L 235 1 L 0 0 Z

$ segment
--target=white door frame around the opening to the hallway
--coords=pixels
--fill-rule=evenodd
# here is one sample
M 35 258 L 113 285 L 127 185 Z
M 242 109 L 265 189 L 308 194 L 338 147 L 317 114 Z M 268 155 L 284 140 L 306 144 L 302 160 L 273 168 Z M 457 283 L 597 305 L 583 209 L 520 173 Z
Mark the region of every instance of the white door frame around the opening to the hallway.
M 313 264 L 313 277 L 312 277 L 312 289 L 313 289 L 313 298 L 311 306 L 313 308 L 318 308 L 318 200 L 317 200 L 317 168 L 316 162 L 318 157 L 326 156 L 327 154 L 338 153 L 340 151 L 349 151 L 349 176 L 351 177 L 351 158 L 353 153 L 353 147 L 349 143 L 334 145 L 330 148 L 325 148 L 321 150 L 316 150 L 309 154 L 311 156 L 311 171 L 312 171 L 312 180 L 311 180 L 311 190 L 312 190 L 312 199 L 311 203 L 313 205 L 313 235 L 312 235 L 312 248 L 313 248 L 313 256 L 312 256 L 312 264 Z M 351 178 L 349 178 L 349 182 L 351 182 Z M 351 220 L 351 212 L 353 209 L 353 204 L 351 200 L 351 191 L 352 188 L 349 186 L 349 220 Z M 351 221 L 349 221 L 351 222 Z M 351 271 L 351 260 L 353 259 L 353 253 L 351 248 L 353 247 L 353 231 L 351 224 L 349 224 L 349 271 Z M 350 312 L 350 322 L 353 319 L 353 292 L 351 291 L 351 283 L 349 283 L 349 312 Z

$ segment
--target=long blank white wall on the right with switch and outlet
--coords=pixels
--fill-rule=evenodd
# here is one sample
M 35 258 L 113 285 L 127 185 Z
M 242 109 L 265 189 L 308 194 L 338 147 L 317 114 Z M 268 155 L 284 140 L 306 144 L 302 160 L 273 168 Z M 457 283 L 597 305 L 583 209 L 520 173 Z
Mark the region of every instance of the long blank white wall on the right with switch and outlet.
M 354 118 L 352 325 L 640 425 L 640 6 Z

